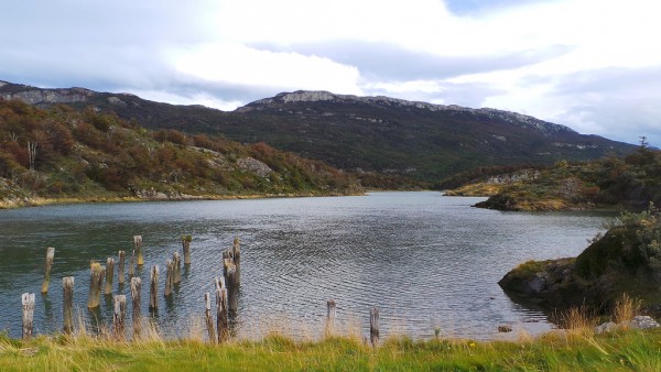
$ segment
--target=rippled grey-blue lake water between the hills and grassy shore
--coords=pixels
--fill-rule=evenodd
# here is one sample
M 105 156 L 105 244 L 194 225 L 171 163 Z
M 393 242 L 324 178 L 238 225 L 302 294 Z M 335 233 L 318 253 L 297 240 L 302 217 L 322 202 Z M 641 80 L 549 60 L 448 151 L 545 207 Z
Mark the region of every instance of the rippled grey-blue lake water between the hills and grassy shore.
M 75 306 L 88 324 L 108 326 L 111 298 L 87 310 L 89 262 L 105 265 L 142 236 L 142 314 L 149 269 L 161 267 L 154 322 L 165 337 L 204 333 L 204 293 L 221 276 L 221 252 L 241 240 L 236 331 L 323 335 L 326 302 L 337 303 L 342 332 L 369 335 L 380 309 L 382 337 L 492 339 L 551 329 L 546 316 L 512 303 L 497 282 L 527 260 L 574 256 L 603 231 L 599 212 L 501 212 L 470 207 L 484 198 L 440 193 L 216 201 L 46 206 L 0 211 L 0 329 L 21 337 L 21 294 L 35 293 L 34 332 L 62 328 L 62 278 L 75 276 Z M 192 234 L 192 261 L 172 298 L 162 296 L 165 260 Z M 47 295 L 40 294 L 46 247 L 55 248 Z M 127 253 L 130 255 L 130 253 Z M 128 262 L 128 259 L 127 259 Z M 129 281 L 127 280 L 127 283 Z M 115 294 L 130 288 L 115 280 Z M 95 320 L 96 319 L 96 320 Z

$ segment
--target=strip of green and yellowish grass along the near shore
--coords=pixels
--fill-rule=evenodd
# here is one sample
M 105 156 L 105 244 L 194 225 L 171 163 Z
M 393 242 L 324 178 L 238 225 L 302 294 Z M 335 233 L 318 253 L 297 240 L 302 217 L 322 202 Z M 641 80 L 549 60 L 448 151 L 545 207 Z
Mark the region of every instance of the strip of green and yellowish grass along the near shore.
M 78 337 L 0 338 L 2 371 L 659 371 L 661 331 L 548 333 L 489 341 L 407 337 L 371 348 L 355 338 L 315 342 L 270 336 L 216 346 L 201 340 L 119 342 Z

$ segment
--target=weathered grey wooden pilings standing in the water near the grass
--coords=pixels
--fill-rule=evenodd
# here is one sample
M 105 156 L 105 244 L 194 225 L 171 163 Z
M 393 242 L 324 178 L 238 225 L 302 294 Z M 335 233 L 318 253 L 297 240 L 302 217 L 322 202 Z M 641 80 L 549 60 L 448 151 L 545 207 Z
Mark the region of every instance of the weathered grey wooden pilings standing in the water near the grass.
M 182 248 L 184 252 L 184 264 L 191 264 L 191 236 L 182 237 Z M 131 255 L 129 264 L 129 276 L 133 276 L 136 263 L 143 265 L 142 254 L 142 237 L 133 237 L 134 250 Z M 55 249 L 47 248 L 46 252 L 46 264 L 44 270 L 44 283 L 42 284 L 42 293 L 47 293 L 51 270 L 53 267 Z M 118 283 L 124 283 L 124 251 L 119 251 L 118 260 Z M 137 258 L 137 262 L 136 262 Z M 90 264 L 90 286 L 89 286 L 89 298 L 88 308 L 95 308 L 99 306 L 101 285 L 104 283 L 104 276 L 106 278 L 106 286 L 104 287 L 104 294 L 112 294 L 112 278 L 115 270 L 115 260 L 108 258 L 106 261 L 106 269 L 98 263 L 91 262 Z M 241 250 L 240 241 L 235 238 L 232 247 L 223 252 L 223 277 L 215 278 L 215 297 L 216 297 L 216 321 L 214 321 L 212 313 L 212 295 L 207 292 L 204 295 L 205 303 L 205 324 L 207 327 L 208 338 L 212 341 L 224 342 L 230 337 L 229 331 L 229 317 L 236 316 L 238 311 L 238 288 L 241 281 Z M 105 275 L 104 275 L 105 274 Z M 178 252 L 174 252 L 172 260 L 166 260 L 166 280 L 164 296 L 171 296 L 173 285 L 182 281 L 181 275 L 181 255 Z M 150 310 L 156 310 L 158 305 L 158 283 L 159 283 L 159 265 L 152 266 L 150 271 Z M 141 315 L 140 315 L 140 303 L 141 303 L 141 288 L 142 283 L 140 277 L 131 277 L 131 297 L 132 297 L 132 327 L 133 337 L 137 337 L 141 332 Z M 73 298 L 74 298 L 74 277 L 67 276 L 63 278 L 63 315 L 64 315 L 64 332 L 71 333 L 74 329 L 74 310 L 73 310 Z M 32 336 L 32 324 L 34 313 L 34 294 L 23 294 L 23 338 L 29 339 Z M 124 295 L 113 296 L 113 316 L 112 316 L 112 331 L 117 338 L 123 339 L 124 335 L 124 318 L 127 308 L 127 297 Z M 330 299 L 327 302 L 327 314 L 325 335 L 330 337 L 335 331 L 335 314 L 336 304 L 335 300 Z M 370 342 L 376 346 L 379 341 L 379 309 L 372 308 L 370 310 Z

